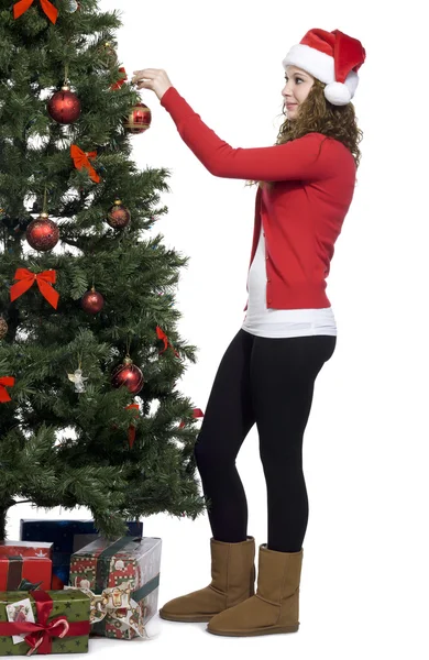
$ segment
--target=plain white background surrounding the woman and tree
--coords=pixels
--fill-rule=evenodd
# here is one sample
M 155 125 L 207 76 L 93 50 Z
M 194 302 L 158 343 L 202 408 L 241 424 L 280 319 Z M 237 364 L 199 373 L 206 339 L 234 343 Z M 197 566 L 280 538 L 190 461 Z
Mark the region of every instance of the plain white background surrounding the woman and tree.
M 428 307 L 427 53 L 416 2 L 226 2 L 102 0 L 120 9 L 119 57 L 134 69 L 164 68 L 201 119 L 234 147 L 275 143 L 282 123 L 282 59 L 311 28 L 359 38 L 367 59 L 353 103 L 362 164 L 328 278 L 338 323 L 333 358 L 316 382 L 304 441 L 310 515 L 304 541 L 296 635 L 218 637 L 206 624 L 156 615 L 146 641 L 92 640 L 99 658 L 427 659 Z M 425 66 L 425 70 L 424 69 Z M 141 168 L 169 167 L 167 216 L 154 226 L 190 255 L 178 306 L 183 338 L 199 348 L 180 391 L 206 409 L 219 362 L 244 318 L 256 188 L 213 177 L 182 141 L 150 90 L 152 127 L 134 136 Z M 420 109 L 421 108 L 421 109 Z M 257 431 L 238 457 L 249 502 L 248 534 L 266 542 L 266 490 Z M 19 519 L 58 509 L 14 507 Z M 89 517 L 76 510 L 69 517 Z M 160 603 L 210 582 L 210 528 L 167 514 L 144 520 L 163 539 Z

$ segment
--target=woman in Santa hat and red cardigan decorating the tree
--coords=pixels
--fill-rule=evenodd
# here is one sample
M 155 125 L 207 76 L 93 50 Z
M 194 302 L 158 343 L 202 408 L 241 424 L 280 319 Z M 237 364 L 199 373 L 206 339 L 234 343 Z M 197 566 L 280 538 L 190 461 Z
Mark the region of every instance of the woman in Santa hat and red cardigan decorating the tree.
M 162 69 L 134 72 L 215 176 L 258 182 L 249 299 L 219 365 L 195 455 L 212 530 L 211 583 L 166 603 L 160 616 L 209 622 L 216 635 L 294 632 L 308 498 L 302 439 L 315 381 L 332 356 L 336 320 L 326 294 L 333 246 L 353 198 L 362 131 L 351 99 L 365 61 L 360 41 L 314 29 L 283 66 L 286 120 L 274 146 L 232 148 Z M 267 543 L 248 536 L 235 459 L 256 424 L 267 488 Z

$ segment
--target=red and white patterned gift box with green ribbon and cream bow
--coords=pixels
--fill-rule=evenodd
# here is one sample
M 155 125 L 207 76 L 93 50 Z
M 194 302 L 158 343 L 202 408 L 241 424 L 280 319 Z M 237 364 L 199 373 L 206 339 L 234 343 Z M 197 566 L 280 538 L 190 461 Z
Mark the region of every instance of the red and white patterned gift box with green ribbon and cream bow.
M 146 636 L 144 626 L 157 612 L 161 547 L 160 538 L 99 538 L 72 556 L 70 585 L 92 595 L 95 635 Z

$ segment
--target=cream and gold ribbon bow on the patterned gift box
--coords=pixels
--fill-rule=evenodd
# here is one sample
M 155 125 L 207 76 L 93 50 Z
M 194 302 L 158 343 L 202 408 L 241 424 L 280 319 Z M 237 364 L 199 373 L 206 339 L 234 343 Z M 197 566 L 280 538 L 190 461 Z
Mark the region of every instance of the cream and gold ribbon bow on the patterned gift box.
M 78 590 L 90 597 L 90 624 L 99 624 L 107 616 L 110 616 L 122 625 L 135 630 L 140 637 L 145 637 L 145 629 L 142 624 L 143 613 L 139 603 L 131 598 L 131 582 L 123 582 L 118 586 L 109 586 L 101 594 L 95 594 L 91 590 L 84 586 L 65 586 L 64 590 Z M 131 620 L 132 615 L 138 610 L 138 620 Z

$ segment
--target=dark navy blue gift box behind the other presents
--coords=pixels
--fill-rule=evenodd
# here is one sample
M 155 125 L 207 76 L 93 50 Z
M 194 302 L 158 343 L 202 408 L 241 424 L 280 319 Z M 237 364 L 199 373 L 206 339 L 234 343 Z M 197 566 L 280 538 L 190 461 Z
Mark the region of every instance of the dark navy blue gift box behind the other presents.
M 128 522 L 129 534 L 143 536 L 143 522 Z M 95 539 L 99 534 L 94 520 L 21 520 L 21 539 L 24 541 L 48 541 L 53 543 L 52 588 L 61 590 L 68 584 L 70 557 Z

